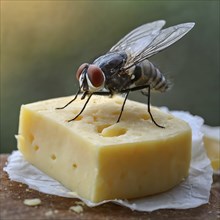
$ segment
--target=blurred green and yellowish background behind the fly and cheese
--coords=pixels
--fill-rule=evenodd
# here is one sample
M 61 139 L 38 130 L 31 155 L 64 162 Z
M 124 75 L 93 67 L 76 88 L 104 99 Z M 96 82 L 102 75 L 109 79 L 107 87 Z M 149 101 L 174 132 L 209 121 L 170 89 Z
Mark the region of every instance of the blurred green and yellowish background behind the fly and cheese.
M 174 82 L 152 104 L 219 120 L 219 1 L 1 1 L 1 152 L 16 149 L 21 104 L 72 95 L 75 72 L 133 28 L 196 22 L 150 60 Z M 140 93 L 130 96 L 141 102 Z

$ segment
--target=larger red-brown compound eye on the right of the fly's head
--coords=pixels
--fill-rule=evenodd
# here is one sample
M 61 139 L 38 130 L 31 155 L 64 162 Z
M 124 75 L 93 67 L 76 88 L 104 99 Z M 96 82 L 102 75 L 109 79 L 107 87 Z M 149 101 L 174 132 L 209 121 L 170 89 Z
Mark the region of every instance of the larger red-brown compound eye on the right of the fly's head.
M 104 83 L 104 75 L 102 70 L 96 65 L 90 65 L 88 70 L 88 77 L 94 87 L 100 87 Z

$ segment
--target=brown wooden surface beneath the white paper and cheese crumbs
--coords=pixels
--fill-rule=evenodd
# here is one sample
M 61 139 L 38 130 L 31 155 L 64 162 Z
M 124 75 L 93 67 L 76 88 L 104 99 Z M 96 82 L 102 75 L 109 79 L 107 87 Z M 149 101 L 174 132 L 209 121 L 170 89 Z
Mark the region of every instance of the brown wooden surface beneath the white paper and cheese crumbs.
M 25 184 L 10 181 L 7 173 L 2 169 L 5 166 L 8 155 L 0 156 L 0 219 L 1 220 L 25 220 L 25 219 L 85 219 L 85 220 L 118 220 L 118 219 L 196 219 L 211 220 L 220 219 L 220 176 L 214 176 L 211 190 L 210 203 L 198 208 L 188 210 L 158 210 L 154 212 L 137 212 L 112 203 L 99 207 L 84 207 L 84 211 L 77 214 L 69 207 L 75 205 L 77 199 L 63 198 L 40 193 L 29 189 Z M 26 206 L 25 199 L 39 198 L 42 203 L 39 206 Z

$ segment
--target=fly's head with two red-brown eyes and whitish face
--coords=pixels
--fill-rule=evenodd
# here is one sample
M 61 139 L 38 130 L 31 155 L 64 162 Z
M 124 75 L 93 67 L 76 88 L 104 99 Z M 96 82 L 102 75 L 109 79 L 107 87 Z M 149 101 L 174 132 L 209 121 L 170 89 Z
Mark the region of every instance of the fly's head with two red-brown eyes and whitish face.
M 105 74 L 100 67 L 94 64 L 82 64 L 76 72 L 76 78 L 81 90 L 86 93 L 100 91 L 105 84 Z

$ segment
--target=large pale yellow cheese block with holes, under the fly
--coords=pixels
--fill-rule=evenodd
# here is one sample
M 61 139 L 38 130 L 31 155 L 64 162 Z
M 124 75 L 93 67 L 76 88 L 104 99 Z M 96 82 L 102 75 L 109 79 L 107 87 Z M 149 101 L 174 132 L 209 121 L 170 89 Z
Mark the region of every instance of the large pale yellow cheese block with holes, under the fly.
M 22 105 L 18 149 L 31 164 L 92 202 L 131 199 L 164 192 L 188 175 L 189 125 L 151 107 L 123 98 L 93 96 L 82 115 L 80 97 Z

